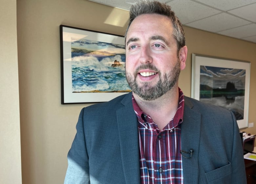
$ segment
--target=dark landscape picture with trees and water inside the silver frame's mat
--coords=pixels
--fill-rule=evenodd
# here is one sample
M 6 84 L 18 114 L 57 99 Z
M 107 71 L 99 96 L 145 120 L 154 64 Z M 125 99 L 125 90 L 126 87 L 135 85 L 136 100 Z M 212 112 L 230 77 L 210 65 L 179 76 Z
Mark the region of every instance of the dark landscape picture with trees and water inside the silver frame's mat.
M 200 65 L 200 98 L 205 103 L 232 111 L 244 119 L 245 69 Z

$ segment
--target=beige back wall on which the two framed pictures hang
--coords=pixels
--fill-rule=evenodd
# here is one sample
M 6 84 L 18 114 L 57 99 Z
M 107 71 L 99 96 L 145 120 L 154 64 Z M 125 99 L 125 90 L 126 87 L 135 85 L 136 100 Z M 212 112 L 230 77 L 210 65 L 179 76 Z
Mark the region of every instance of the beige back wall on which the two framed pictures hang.
M 17 1 L 23 183 L 63 183 L 78 114 L 90 105 L 60 104 L 59 25 L 123 35 L 125 28 L 104 23 L 113 10 L 87 0 Z M 115 17 L 122 15 L 127 11 Z M 256 44 L 192 28 L 185 32 L 189 55 L 180 78 L 185 95 L 190 96 L 191 53 L 251 61 L 250 90 L 255 90 Z M 256 122 L 255 98 L 251 93 L 249 122 Z M 255 127 L 247 130 L 256 134 Z

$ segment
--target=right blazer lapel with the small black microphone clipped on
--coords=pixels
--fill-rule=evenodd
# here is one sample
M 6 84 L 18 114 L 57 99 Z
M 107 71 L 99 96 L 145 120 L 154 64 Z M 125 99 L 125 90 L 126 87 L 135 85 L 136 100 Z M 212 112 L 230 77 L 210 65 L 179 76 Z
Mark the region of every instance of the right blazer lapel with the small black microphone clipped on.
M 181 123 L 181 150 L 194 150 L 191 158 L 182 156 L 182 167 L 184 184 L 197 184 L 199 167 L 198 167 L 198 150 L 200 140 L 201 114 L 192 110 L 193 105 L 189 99 L 185 99 L 184 117 Z M 189 156 L 188 154 L 185 154 Z

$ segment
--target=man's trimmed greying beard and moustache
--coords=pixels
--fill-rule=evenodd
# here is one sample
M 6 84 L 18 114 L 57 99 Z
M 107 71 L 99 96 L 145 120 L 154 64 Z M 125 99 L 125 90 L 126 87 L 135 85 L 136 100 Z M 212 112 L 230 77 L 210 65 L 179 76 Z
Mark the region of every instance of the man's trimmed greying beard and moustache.
M 160 98 L 166 92 L 171 90 L 173 86 L 178 82 L 179 75 L 181 72 L 180 64 L 180 59 L 178 57 L 178 61 L 173 67 L 173 69 L 165 74 L 162 74 L 152 64 L 142 64 L 136 69 L 133 75 L 126 71 L 126 80 L 133 93 L 137 94 L 143 100 L 153 101 Z M 152 86 L 151 82 L 143 82 L 141 86 L 139 86 L 139 84 L 136 82 L 136 77 L 138 75 L 139 70 L 141 69 L 150 69 L 158 72 L 159 81 L 157 82 L 157 84 Z

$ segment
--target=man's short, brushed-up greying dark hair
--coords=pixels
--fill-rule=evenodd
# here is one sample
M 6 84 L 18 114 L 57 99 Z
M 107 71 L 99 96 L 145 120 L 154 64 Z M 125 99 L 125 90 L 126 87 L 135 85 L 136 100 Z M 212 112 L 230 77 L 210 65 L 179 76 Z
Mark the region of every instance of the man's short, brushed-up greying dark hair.
M 126 42 L 127 32 L 128 32 L 128 29 L 130 28 L 132 21 L 139 15 L 153 14 L 153 13 L 167 16 L 171 20 L 173 24 L 172 34 L 176 39 L 177 47 L 179 51 L 181 47 L 186 45 L 185 34 L 184 34 L 183 27 L 181 25 L 181 22 L 179 18 L 175 15 L 174 11 L 171 10 L 171 7 L 169 5 L 160 3 L 158 1 L 142 0 L 133 4 L 130 7 L 130 19 L 124 35 L 125 42 Z

